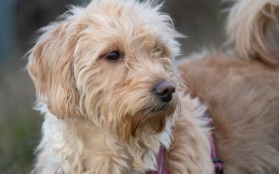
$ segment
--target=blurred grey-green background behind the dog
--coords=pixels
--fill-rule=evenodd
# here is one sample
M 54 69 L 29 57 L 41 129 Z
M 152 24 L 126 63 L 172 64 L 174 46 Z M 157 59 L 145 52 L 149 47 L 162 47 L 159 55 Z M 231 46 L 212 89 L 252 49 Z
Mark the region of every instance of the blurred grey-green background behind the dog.
M 0 0 L 0 173 L 30 173 L 40 141 L 43 116 L 33 111 L 35 88 L 23 56 L 36 31 L 53 22 L 69 4 L 88 0 Z M 166 0 L 163 11 L 174 19 L 183 56 L 223 44 L 225 13 L 218 0 Z

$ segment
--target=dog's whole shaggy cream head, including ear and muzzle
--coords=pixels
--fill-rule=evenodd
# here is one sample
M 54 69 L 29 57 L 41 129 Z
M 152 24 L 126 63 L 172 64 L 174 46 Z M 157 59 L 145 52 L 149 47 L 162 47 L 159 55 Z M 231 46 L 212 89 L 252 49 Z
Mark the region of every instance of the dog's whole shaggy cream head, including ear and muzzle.
M 158 8 L 93 1 L 43 29 L 28 63 L 38 100 L 59 118 L 85 117 L 126 140 L 162 131 L 177 104 L 179 34 Z

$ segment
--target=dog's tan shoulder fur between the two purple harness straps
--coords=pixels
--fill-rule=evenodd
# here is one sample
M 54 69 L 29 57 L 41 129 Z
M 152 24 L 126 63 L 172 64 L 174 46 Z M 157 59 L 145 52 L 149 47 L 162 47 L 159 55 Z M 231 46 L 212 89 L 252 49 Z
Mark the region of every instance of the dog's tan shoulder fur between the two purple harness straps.
M 167 152 L 172 174 L 209 174 L 213 172 L 209 140 L 191 116 L 176 120 L 174 139 Z

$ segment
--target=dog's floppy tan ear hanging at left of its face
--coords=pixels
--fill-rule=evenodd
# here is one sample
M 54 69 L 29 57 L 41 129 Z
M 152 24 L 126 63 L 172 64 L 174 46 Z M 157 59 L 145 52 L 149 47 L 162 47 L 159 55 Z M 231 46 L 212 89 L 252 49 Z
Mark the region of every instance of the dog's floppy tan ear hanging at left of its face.
M 37 98 L 58 118 L 78 115 L 73 52 L 82 28 L 82 24 L 70 21 L 47 26 L 29 52 L 27 70 Z

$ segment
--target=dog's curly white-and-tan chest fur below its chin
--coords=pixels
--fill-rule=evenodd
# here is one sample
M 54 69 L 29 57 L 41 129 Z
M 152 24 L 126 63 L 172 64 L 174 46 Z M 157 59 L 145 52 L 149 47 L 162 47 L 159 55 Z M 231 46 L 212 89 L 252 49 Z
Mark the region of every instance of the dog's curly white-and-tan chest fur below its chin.
M 52 173 L 144 173 L 156 169 L 160 143 L 169 148 L 172 139 L 170 120 L 161 134 L 126 144 L 88 120 L 59 120 L 44 104 L 38 110 L 45 114 L 38 162 L 51 163 Z

